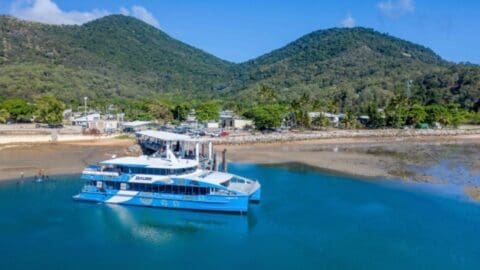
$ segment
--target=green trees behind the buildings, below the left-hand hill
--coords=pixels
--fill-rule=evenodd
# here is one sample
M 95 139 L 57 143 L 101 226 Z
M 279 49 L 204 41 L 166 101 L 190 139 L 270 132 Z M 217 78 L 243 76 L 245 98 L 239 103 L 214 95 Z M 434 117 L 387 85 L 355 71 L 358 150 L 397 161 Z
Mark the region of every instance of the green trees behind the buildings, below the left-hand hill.
M 91 100 L 88 110 L 93 109 L 104 114 L 124 113 L 125 120 L 157 120 L 161 123 L 179 123 L 187 119 L 193 110 L 199 121 L 218 121 L 221 103 L 216 100 L 199 102 L 170 102 L 161 98 L 152 99 L 120 99 Z M 63 122 L 65 109 L 83 112 L 80 101 L 69 103 L 58 100 L 51 95 L 29 101 L 22 98 L 0 98 L 0 123 L 37 122 L 60 124 Z

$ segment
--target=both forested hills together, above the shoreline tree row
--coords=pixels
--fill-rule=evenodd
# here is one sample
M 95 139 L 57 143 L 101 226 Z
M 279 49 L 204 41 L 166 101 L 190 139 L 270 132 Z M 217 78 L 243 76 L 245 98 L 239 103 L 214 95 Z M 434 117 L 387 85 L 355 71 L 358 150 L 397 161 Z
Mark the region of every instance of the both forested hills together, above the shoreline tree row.
M 341 109 L 385 106 L 413 80 L 425 104 L 480 106 L 480 68 L 442 60 L 432 50 L 366 28 L 305 35 L 251 61 L 233 64 L 122 15 L 82 26 L 0 17 L 0 96 L 61 99 L 221 97 L 254 101 L 261 85 L 280 99 L 303 94 Z

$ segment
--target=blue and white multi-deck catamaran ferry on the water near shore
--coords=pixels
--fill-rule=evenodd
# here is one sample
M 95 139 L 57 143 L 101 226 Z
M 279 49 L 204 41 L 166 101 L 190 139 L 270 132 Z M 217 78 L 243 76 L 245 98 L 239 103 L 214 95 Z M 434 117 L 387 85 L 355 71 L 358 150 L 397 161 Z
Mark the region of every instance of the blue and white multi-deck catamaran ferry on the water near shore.
M 261 185 L 216 170 L 216 154 L 208 143 L 208 155 L 200 153 L 200 141 L 163 131 L 137 133 L 144 152 L 87 166 L 86 181 L 75 200 L 135 206 L 245 214 L 249 204 L 260 202 Z

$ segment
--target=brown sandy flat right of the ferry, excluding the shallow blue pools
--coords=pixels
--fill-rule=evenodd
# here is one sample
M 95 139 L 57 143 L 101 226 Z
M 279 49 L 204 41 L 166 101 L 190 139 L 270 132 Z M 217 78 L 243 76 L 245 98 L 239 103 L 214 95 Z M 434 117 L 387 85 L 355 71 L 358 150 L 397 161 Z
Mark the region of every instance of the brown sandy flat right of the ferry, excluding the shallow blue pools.
M 431 166 L 445 158 L 440 153 L 451 146 L 471 150 L 471 155 L 456 157 L 480 168 L 480 135 L 417 138 L 342 138 L 284 143 L 217 145 L 227 149 L 232 162 L 276 164 L 298 162 L 319 169 L 368 178 L 401 178 L 414 181 L 439 181 L 416 173 L 412 166 Z M 465 148 L 465 149 L 463 149 Z M 480 172 L 480 171 L 479 171 Z

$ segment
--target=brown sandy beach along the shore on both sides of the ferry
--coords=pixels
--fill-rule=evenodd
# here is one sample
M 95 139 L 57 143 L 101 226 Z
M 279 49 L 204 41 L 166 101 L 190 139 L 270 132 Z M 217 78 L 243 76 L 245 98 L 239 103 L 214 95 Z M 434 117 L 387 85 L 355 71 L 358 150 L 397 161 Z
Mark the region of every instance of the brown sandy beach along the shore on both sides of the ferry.
M 0 180 L 47 175 L 79 174 L 85 165 L 113 155 L 138 155 L 132 139 L 62 135 L 0 138 Z M 7 142 L 3 143 L 2 142 Z M 404 137 L 344 137 L 273 143 L 215 144 L 220 155 L 227 149 L 230 162 L 283 164 L 303 163 L 320 170 L 358 178 L 401 179 L 413 182 L 448 183 L 449 177 L 426 169 L 444 160 L 449 166 L 466 166 L 471 177 L 455 178 L 473 198 L 479 198 L 480 135 Z M 454 171 L 454 169 L 452 169 Z M 451 177 L 450 177 L 451 178 Z M 473 180 L 472 180 L 473 179 Z

